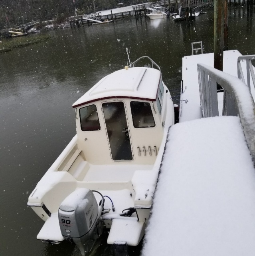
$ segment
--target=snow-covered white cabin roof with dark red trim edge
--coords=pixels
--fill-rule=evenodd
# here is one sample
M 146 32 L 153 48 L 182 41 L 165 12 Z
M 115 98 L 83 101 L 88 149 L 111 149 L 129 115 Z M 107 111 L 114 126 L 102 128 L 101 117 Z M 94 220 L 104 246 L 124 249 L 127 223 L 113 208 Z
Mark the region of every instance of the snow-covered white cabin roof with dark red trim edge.
M 128 68 L 102 78 L 73 104 L 73 108 L 108 98 L 156 100 L 160 71 L 154 68 Z

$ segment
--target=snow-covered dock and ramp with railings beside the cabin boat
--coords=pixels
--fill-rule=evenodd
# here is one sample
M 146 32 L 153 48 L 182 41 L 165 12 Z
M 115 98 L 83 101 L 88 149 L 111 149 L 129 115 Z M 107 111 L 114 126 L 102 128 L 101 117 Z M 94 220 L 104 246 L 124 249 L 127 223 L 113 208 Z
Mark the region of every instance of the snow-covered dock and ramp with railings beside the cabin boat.
M 225 51 L 223 72 L 213 53 L 182 59 L 179 123 L 168 132 L 142 256 L 254 255 L 253 59 Z

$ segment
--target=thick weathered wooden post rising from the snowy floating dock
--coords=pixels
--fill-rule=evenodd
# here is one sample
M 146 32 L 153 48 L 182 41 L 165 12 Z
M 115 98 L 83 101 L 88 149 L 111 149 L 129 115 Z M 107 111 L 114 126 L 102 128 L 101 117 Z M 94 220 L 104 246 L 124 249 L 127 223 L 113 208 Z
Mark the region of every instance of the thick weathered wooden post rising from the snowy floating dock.
M 214 68 L 223 70 L 224 0 L 214 0 Z

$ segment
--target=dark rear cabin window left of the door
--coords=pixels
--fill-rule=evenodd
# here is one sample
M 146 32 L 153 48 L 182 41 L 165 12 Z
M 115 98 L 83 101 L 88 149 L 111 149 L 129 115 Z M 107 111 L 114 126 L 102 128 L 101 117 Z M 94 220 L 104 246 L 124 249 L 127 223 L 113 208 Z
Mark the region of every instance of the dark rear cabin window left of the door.
M 79 114 L 81 121 L 81 130 L 97 131 L 101 129 L 96 105 L 89 105 L 84 108 L 80 108 Z

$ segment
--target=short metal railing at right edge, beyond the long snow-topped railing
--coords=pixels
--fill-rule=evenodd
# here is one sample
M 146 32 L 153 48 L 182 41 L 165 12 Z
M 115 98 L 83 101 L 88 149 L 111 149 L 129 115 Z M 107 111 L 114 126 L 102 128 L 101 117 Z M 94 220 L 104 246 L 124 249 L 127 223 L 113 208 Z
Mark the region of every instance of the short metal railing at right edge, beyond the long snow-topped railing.
M 253 86 L 255 87 L 255 75 L 253 66 L 251 64 L 251 60 L 255 60 L 255 55 L 247 55 L 247 56 L 239 56 L 237 58 L 237 76 L 245 83 L 245 79 L 243 76 L 243 70 L 241 66 L 241 61 L 246 60 L 246 72 L 247 72 L 247 86 L 251 90 L 251 79 L 253 81 Z M 250 77 L 251 74 L 251 77 Z

